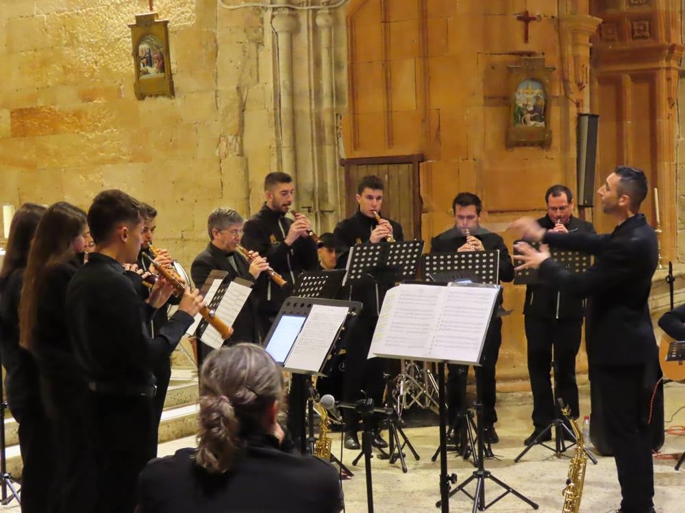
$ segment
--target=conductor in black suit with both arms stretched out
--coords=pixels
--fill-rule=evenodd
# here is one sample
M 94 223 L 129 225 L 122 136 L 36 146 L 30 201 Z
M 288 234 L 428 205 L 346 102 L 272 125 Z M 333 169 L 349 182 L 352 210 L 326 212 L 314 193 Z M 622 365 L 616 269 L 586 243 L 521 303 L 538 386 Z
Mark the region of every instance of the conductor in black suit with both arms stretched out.
M 590 384 L 603 404 L 603 430 L 612 440 L 621 484 L 620 513 L 653 513 L 649 402 L 660 370 L 649 316 L 651 278 L 658 262 L 656 234 L 639 213 L 647 178 L 619 166 L 599 189 L 602 210 L 616 220 L 610 234 L 553 233 L 532 219 L 514 223 L 527 239 L 595 255 L 576 275 L 540 251 L 517 245 L 521 267 L 539 268 L 550 285 L 588 298 L 586 341 Z

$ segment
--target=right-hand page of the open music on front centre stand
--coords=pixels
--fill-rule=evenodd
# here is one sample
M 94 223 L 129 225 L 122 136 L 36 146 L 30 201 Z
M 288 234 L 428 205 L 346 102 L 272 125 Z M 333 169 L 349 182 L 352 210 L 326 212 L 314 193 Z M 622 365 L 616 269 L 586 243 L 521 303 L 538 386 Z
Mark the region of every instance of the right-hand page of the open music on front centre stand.
M 445 303 L 450 306 L 438 313 L 430 354 L 438 360 L 477 362 L 499 289 L 457 286 L 445 290 Z

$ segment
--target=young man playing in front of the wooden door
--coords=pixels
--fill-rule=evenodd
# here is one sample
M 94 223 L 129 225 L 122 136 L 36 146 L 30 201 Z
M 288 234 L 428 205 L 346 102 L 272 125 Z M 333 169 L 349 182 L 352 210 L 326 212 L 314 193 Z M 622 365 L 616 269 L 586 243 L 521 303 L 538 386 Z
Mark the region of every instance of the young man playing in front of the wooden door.
M 399 223 L 383 219 L 380 215 L 383 205 L 383 181 L 378 176 L 364 176 L 358 187 L 356 199 L 359 204 L 358 211 L 336 226 L 334 239 L 336 245 L 337 265 L 344 269 L 347 265 L 349 250 L 355 244 L 378 244 L 386 242 L 388 235 L 392 235 L 396 241 L 403 240 L 402 227 Z M 377 213 L 381 220 L 377 221 Z M 383 399 L 384 363 L 380 358 L 367 359 L 371 339 L 378 321 L 378 313 L 381 308 L 386 291 L 394 284 L 373 282 L 369 278 L 368 283 L 360 283 L 345 287 L 342 291 L 344 299 L 360 301 L 364 304 L 361 315 L 358 317 L 352 332 L 347 336 L 345 350 L 345 380 L 343 381 L 343 401 L 355 402 L 362 399 L 362 390 L 367 397 L 373 399 L 374 404 L 380 404 Z M 354 410 L 343 410 L 345 420 L 345 448 L 359 449 L 359 417 Z M 387 443 L 378 434 L 373 445 L 387 447 Z

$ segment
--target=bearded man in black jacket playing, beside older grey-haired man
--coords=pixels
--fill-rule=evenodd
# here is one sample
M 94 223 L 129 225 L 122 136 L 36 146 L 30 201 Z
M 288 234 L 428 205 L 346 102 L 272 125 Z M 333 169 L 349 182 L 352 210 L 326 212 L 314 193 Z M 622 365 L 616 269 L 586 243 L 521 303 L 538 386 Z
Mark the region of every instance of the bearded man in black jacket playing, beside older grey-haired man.
M 295 215 L 295 220 L 286 218 L 295 198 L 295 186 L 290 175 L 282 172 L 267 174 L 264 198 L 262 209 L 245 222 L 242 245 L 262 255 L 288 283 L 278 287 L 266 273 L 256 282 L 253 293 L 257 296 L 262 337 L 269 333 L 284 300 L 292 293 L 297 276 L 319 266 L 316 244 L 308 233 L 311 229 L 309 220 L 301 213 Z M 292 380 L 288 393 L 288 429 L 298 447 L 303 447 L 305 401 L 303 382 Z

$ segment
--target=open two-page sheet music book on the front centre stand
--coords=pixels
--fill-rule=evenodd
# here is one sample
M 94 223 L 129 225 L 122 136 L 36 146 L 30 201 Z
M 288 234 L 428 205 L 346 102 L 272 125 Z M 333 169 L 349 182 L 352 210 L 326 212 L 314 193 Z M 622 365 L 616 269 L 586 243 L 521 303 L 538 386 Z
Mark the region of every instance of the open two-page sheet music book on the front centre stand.
M 378 317 L 369 358 L 479 365 L 499 285 L 399 285 Z

